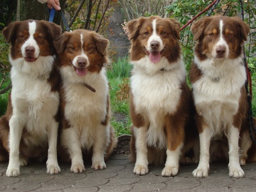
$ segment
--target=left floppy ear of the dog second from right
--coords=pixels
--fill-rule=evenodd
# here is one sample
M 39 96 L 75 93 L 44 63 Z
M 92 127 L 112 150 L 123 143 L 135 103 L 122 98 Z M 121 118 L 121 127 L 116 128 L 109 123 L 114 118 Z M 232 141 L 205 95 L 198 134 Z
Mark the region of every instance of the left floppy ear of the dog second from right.
M 140 19 L 132 19 L 127 22 L 129 40 L 136 39 L 140 35 L 140 26 L 143 20 L 143 17 L 141 17 Z

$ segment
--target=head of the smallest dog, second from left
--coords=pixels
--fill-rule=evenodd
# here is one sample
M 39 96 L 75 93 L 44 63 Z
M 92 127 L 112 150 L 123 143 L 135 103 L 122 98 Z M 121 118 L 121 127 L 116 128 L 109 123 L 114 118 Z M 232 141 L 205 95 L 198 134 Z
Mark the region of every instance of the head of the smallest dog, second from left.
M 72 68 L 77 76 L 87 72 L 99 73 L 108 63 L 108 40 L 94 31 L 77 29 L 65 32 L 56 43 L 60 67 Z

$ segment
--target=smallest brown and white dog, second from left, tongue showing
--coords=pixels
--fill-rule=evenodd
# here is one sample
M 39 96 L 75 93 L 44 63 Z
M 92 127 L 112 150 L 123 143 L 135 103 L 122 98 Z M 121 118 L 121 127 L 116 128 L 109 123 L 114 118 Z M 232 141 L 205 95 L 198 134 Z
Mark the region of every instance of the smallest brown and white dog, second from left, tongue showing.
M 110 125 L 108 40 L 82 29 L 66 32 L 57 42 L 61 72 L 61 148 L 71 159 L 71 172 L 84 172 L 83 154 L 92 153 L 92 168 L 106 168 L 116 145 Z M 62 157 L 65 154 L 62 154 Z

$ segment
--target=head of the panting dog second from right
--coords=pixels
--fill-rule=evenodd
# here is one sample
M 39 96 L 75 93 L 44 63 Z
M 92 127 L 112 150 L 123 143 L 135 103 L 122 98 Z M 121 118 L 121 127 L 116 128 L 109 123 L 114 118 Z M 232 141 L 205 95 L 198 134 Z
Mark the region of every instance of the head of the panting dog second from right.
M 131 40 L 131 60 L 146 56 L 158 63 L 164 56 L 169 62 L 180 58 L 180 24 L 175 19 L 159 16 L 141 17 L 127 23 Z

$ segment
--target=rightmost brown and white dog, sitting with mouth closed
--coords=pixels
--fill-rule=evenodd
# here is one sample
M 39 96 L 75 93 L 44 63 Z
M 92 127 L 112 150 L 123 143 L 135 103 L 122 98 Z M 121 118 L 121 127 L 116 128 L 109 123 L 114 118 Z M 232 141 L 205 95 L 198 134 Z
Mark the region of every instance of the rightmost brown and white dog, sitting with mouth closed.
M 252 147 L 243 64 L 249 26 L 239 17 L 219 15 L 196 21 L 191 31 L 197 44 L 189 76 L 200 134 L 200 162 L 193 175 L 207 177 L 209 161 L 227 156 L 229 175 L 243 177 L 240 164 L 246 163 Z M 255 161 L 255 150 L 250 151 L 248 160 Z

